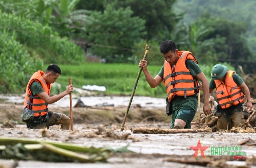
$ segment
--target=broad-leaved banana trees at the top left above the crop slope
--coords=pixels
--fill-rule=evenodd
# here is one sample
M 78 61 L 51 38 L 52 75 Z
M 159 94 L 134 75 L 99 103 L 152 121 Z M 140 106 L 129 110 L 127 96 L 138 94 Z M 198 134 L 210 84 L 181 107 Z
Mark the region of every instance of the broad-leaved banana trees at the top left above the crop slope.
M 72 36 L 83 31 L 84 25 L 93 20 L 90 11 L 76 10 L 80 0 L 9 0 L 1 8 L 11 14 L 38 20 L 43 25 L 50 25 L 60 36 Z

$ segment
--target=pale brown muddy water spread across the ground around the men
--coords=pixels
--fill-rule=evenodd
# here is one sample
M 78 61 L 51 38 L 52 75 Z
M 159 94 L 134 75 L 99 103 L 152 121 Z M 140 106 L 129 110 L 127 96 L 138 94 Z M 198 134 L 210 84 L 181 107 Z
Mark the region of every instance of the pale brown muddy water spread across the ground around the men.
M 85 105 L 94 106 L 100 105 L 103 103 L 113 104 L 114 106 L 124 105 L 127 106 L 130 101 L 130 97 L 118 97 L 118 96 L 105 96 L 105 97 L 80 97 L 77 95 L 72 96 L 73 105 L 76 104 L 78 99 L 81 99 Z M 0 99 L 4 100 L 4 103 L 23 103 L 24 97 L 23 95 L 19 96 L 6 96 L 0 95 Z M 132 100 L 132 105 L 140 104 L 142 107 L 165 107 L 165 99 L 163 98 L 152 98 L 152 97 L 138 97 L 134 96 Z M 69 96 L 65 96 L 60 101 L 51 104 L 51 106 L 55 107 L 69 107 Z M 126 123 L 126 127 L 135 128 L 134 123 Z M 140 123 L 137 127 L 159 127 L 161 123 L 152 123 L 151 125 Z M 115 168 L 141 168 L 141 167 L 201 167 L 196 165 L 189 164 L 181 164 L 176 162 L 167 162 L 164 161 L 165 157 L 174 157 L 177 158 L 185 157 L 187 159 L 192 159 L 194 155 L 194 151 L 190 148 L 195 147 L 198 141 L 201 141 L 202 146 L 236 146 L 240 142 L 250 138 L 252 140 L 256 140 L 255 133 L 184 133 L 184 134 L 134 134 L 129 129 L 125 129 L 123 132 L 118 131 L 120 129 L 120 125 L 117 126 L 118 129 L 113 130 L 116 134 L 124 134 L 130 133 L 129 138 L 127 140 L 113 140 L 107 139 L 104 137 L 97 138 L 86 138 L 85 135 L 88 132 L 95 131 L 95 125 L 89 126 L 86 124 L 75 124 L 74 131 L 70 130 L 60 130 L 60 129 L 49 129 L 49 134 L 54 134 L 54 136 L 42 137 L 40 130 L 28 130 L 25 128 L 25 125 L 17 125 L 14 129 L 1 129 L 0 128 L 0 136 L 4 137 L 20 137 L 20 138 L 30 138 L 36 140 L 56 140 L 60 142 L 68 142 L 77 145 L 84 146 L 94 146 L 94 147 L 111 147 L 111 148 L 120 148 L 129 144 L 128 149 L 134 151 L 136 154 L 129 157 L 122 158 L 121 156 L 114 156 L 108 159 L 109 163 L 101 163 L 101 164 L 92 164 L 92 163 L 49 163 L 49 162 L 40 162 L 40 161 L 18 161 L 17 168 L 34 168 L 35 165 L 37 168 L 77 168 L 77 167 L 115 167 Z M 169 127 L 169 124 L 166 125 L 166 128 Z M 162 127 L 161 128 L 165 128 Z M 21 133 L 22 132 L 22 133 Z M 63 138 L 64 137 L 64 138 Z M 241 151 L 246 153 L 246 158 L 252 158 L 256 155 L 256 145 L 242 145 Z M 215 156 L 210 155 L 210 148 L 207 148 L 204 151 L 206 159 L 213 159 Z M 164 156 L 161 156 L 164 155 Z M 225 156 L 223 155 L 223 158 Z M 197 156 L 195 159 L 201 158 L 201 156 Z M 202 158 L 201 158 L 202 159 Z M 13 160 L 1 160 L 1 163 L 11 164 Z M 233 167 L 239 165 L 245 165 L 245 161 L 227 161 L 228 164 L 233 164 Z M 256 167 L 256 166 L 250 166 Z

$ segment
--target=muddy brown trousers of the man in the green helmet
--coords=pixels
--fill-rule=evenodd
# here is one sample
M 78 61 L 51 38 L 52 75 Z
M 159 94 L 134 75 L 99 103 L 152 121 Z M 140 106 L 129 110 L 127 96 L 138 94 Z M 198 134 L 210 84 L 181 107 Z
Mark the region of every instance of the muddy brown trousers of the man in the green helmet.
M 218 112 L 221 112 L 217 122 L 219 129 L 230 130 L 232 127 L 245 127 L 244 112 L 241 104 L 220 109 Z

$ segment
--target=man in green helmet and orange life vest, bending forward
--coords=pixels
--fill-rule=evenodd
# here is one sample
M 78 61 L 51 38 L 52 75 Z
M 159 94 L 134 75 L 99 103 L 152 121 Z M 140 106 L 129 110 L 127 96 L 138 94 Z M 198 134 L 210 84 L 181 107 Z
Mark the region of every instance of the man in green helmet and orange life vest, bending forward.
M 243 79 L 234 71 L 228 70 L 225 65 L 214 65 L 209 83 L 210 93 L 216 88 L 216 97 L 219 105 L 215 115 L 218 116 L 219 129 L 244 127 L 244 113 L 242 103 L 244 95 L 247 98 L 248 111 L 252 110 L 250 91 Z

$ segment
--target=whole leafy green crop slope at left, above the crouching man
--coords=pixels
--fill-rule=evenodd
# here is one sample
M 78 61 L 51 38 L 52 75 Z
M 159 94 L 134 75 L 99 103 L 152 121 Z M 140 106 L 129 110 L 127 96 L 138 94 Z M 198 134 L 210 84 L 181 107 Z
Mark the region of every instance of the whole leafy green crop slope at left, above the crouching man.
M 49 26 L 0 13 L 1 93 L 24 90 L 31 74 L 44 63 L 83 63 L 84 52 L 61 39 Z M 41 58 L 41 59 L 39 59 Z M 42 60 L 43 59 L 43 60 Z

